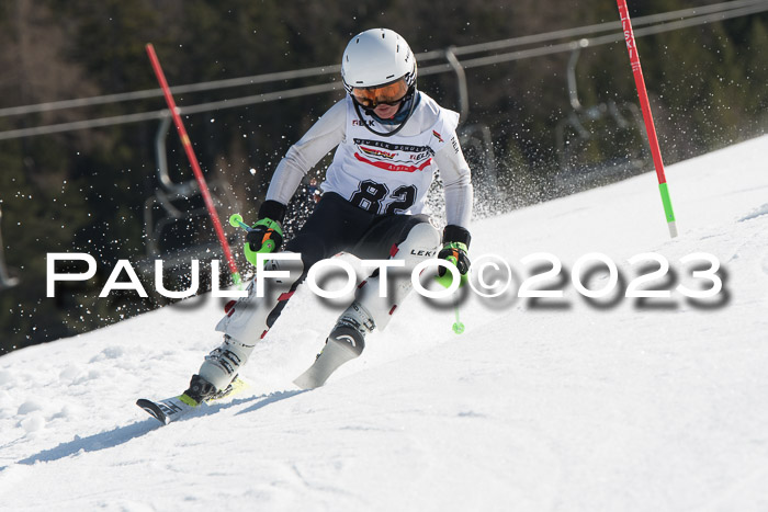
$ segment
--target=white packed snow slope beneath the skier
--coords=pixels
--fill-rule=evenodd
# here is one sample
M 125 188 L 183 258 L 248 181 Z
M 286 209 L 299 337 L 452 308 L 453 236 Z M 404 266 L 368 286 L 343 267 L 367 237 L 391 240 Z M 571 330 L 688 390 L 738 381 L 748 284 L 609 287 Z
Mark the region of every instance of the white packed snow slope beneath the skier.
M 768 510 L 768 136 L 667 169 L 670 239 L 653 173 L 477 221 L 509 291 L 453 310 L 411 295 L 323 388 L 292 380 L 340 310 L 291 300 L 228 403 L 160 426 L 134 406 L 184 389 L 221 301 L 194 298 L 0 357 L 3 510 Z M 549 252 L 563 298 L 517 297 Z M 575 262 L 601 252 L 614 293 L 588 301 Z M 637 275 L 669 272 L 624 297 Z M 721 269 L 708 289 L 703 261 Z M 581 271 L 590 289 L 607 273 Z M 486 281 L 498 275 L 486 271 Z M 305 287 L 306 288 L 306 287 Z M 449 304 L 450 306 L 450 304 Z

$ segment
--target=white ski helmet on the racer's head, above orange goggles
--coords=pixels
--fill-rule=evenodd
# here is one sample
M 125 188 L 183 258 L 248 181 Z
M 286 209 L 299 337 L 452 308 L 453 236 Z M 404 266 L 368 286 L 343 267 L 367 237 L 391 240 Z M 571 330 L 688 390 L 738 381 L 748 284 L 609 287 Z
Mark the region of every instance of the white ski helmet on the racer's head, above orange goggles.
M 352 37 L 341 58 L 341 79 L 350 94 L 353 88 L 373 88 L 405 78 L 416 83 L 416 57 L 396 32 L 371 29 Z

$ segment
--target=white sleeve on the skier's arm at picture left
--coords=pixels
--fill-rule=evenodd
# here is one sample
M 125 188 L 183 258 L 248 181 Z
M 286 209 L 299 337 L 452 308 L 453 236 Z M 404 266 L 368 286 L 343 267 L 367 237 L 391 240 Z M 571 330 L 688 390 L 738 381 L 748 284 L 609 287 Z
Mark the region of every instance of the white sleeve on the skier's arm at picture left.
M 280 160 L 269 184 L 267 200 L 287 204 L 309 169 L 343 140 L 346 124 L 347 107 L 340 101 L 323 114 Z

